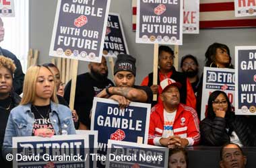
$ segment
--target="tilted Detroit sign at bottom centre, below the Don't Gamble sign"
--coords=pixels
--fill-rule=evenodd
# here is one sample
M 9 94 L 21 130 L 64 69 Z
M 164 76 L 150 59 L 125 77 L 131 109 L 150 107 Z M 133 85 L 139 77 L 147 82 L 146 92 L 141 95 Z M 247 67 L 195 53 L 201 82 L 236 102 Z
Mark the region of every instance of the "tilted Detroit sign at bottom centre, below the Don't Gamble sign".
M 106 168 L 144 167 L 167 168 L 168 148 L 108 140 Z

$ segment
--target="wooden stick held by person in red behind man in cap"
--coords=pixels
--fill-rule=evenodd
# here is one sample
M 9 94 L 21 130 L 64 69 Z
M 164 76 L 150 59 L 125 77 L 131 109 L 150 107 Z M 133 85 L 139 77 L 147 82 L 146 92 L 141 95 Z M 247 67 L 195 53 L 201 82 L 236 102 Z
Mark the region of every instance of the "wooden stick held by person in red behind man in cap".
M 154 67 L 153 67 L 153 85 L 158 84 L 158 44 L 154 44 Z M 158 99 L 158 95 L 153 95 L 153 101 Z

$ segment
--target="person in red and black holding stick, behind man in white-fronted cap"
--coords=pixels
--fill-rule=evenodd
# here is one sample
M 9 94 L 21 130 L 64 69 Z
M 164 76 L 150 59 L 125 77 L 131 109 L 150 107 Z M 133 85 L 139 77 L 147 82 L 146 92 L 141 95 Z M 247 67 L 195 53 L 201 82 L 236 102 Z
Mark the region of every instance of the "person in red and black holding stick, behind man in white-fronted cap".
M 182 87 L 180 90 L 181 94 L 181 103 L 186 104 L 187 106 L 194 108 L 196 107 L 196 99 L 195 94 L 193 92 L 193 88 L 191 86 L 191 83 L 189 82 L 189 79 L 180 72 L 177 72 L 173 65 L 173 58 L 174 58 L 174 52 L 173 50 L 168 46 L 160 46 L 158 51 L 158 85 L 159 83 L 166 79 L 171 78 L 175 81 L 178 81 L 181 83 Z M 152 92 L 154 94 L 161 93 L 161 89 L 158 85 L 153 85 L 153 73 L 150 73 L 147 77 L 143 79 L 141 82 L 141 86 L 149 86 L 152 89 Z M 160 98 L 158 96 L 158 102 L 160 101 Z M 154 106 L 156 103 L 152 103 L 152 106 Z

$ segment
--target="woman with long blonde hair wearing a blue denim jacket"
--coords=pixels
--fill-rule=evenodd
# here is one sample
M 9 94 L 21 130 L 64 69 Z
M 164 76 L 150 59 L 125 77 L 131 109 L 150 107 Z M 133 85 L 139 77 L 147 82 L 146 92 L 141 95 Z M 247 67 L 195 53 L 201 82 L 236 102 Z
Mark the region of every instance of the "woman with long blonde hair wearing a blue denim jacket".
M 20 106 L 9 115 L 3 153 L 11 153 L 12 137 L 75 134 L 71 110 L 58 104 L 55 78 L 44 66 L 28 69 L 24 79 L 24 95 Z

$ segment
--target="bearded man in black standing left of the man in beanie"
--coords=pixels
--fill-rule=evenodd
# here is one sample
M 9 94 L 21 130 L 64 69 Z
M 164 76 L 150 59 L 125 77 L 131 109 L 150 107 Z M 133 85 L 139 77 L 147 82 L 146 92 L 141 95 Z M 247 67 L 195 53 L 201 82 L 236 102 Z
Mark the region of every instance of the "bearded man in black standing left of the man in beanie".
M 106 65 L 106 58 L 102 56 L 100 63 L 90 62 L 88 65 L 89 73 L 77 75 L 75 87 L 75 104 L 79 116 L 79 130 L 90 130 L 90 110 L 92 109 L 92 101 L 105 87 L 114 86 L 113 82 L 108 77 L 108 67 Z M 71 81 L 65 87 L 64 98 L 69 102 L 71 90 Z

